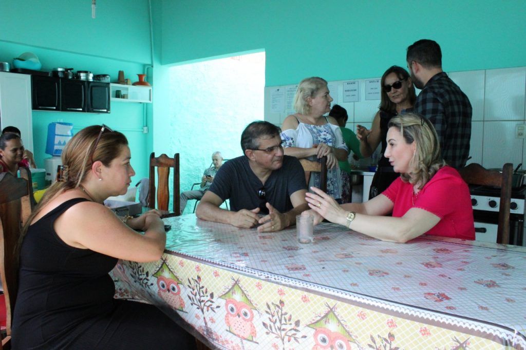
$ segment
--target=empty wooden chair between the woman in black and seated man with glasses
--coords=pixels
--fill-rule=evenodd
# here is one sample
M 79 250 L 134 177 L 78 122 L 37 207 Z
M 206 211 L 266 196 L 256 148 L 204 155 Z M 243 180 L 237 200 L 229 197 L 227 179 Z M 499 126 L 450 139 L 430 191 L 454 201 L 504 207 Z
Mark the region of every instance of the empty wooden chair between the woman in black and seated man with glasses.
M 157 188 L 155 186 L 155 168 L 157 168 Z M 173 212 L 164 217 L 175 217 L 180 212 L 180 188 L 179 188 L 179 153 L 175 153 L 174 158 L 169 158 L 164 153 L 159 157 L 155 157 L 155 153 L 150 155 L 150 174 L 149 174 L 149 194 L 148 207 L 157 208 L 159 210 L 168 211 L 170 202 L 170 190 L 168 187 L 168 179 L 170 177 L 170 168 L 174 169 L 174 181 L 172 197 L 174 201 Z M 156 192 L 157 189 L 157 192 Z M 156 195 L 157 193 L 157 195 Z M 155 199 L 157 198 L 157 207 Z

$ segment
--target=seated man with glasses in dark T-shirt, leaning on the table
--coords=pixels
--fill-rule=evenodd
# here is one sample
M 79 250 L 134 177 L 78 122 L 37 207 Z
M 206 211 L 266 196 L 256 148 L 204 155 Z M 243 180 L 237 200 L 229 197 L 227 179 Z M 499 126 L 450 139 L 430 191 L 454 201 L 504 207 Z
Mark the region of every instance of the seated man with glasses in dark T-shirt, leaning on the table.
M 305 172 L 296 157 L 285 156 L 280 129 L 268 121 L 251 122 L 241 134 L 244 156 L 219 169 L 199 204 L 199 219 L 240 228 L 258 224 L 259 232 L 280 231 L 296 224 L 308 209 Z M 230 199 L 230 211 L 219 205 Z

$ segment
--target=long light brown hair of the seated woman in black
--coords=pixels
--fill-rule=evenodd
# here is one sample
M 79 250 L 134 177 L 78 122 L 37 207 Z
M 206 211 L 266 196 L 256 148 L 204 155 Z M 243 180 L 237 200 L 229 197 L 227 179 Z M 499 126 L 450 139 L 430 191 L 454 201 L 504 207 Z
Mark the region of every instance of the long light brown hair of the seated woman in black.
M 119 156 L 122 147 L 128 145 L 126 136 L 118 131 L 109 131 L 107 129 L 102 133 L 97 145 L 95 145 L 101 129 L 100 125 L 86 127 L 77 132 L 68 141 L 62 152 L 62 164 L 67 166 L 68 169 L 67 180 L 57 181 L 46 190 L 44 197 L 42 197 L 32 214 L 29 215 L 24 225 L 21 242 L 31 221 L 47 203 L 64 191 L 77 188 L 85 180 L 88 173 L 86 170 L 90 169 L 94 162 L 100 161 L 104 166 L 108 167 L 112 160 Z M 93 149 L 94 147 L 96 149 Z

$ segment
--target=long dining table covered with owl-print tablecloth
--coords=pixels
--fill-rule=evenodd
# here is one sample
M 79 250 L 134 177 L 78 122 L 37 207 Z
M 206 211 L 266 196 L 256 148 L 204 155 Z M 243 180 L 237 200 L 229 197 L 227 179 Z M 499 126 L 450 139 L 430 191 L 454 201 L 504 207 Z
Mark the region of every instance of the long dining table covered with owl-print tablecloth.
M 158 261 L 121 260 L 117 298 L 154 304 L 217 349 L 526 349 L 526 248 L 422 235 L 381 241 L 323 222 L 171 225 Z

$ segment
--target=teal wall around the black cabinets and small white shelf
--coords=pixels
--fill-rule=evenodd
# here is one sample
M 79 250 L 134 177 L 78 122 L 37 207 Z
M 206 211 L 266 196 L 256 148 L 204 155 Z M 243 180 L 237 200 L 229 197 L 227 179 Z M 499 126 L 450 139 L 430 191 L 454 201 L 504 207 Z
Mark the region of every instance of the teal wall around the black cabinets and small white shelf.
M 119 70 L 137 80 L 151 62 L 147 0 L 97 1 L 96 18 L 87 0 L 2 1 L 0 61 L 12 63 L 23 52 L 33 52 L 43 70 L 74 67 L 94 74 L 109 74 L 112 82 Z M 148 74 L 151 70 L 148 70 Z M 151 77 L 148 79 L 151 81 Z M 128 138 L 137 175 L 147 177 L 152 133 L 143 133 L 143 104 L 112 102 L 111 114 L 33 111 L 34 153 L 43 167 L 47 125 L 66 121 L 79 128 L 106 123 Z M 146 108 L 146 125 L 152 128 L 151 105 Z

